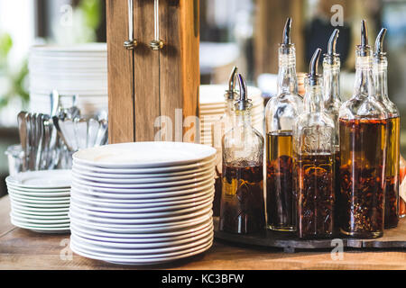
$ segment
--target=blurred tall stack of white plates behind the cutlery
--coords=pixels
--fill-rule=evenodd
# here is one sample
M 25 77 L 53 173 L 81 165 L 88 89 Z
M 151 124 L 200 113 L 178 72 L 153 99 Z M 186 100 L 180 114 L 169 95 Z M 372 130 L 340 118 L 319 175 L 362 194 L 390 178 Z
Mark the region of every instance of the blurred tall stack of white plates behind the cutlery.
M 30 111 L 51 112 L 51 91 L 78 94 L 78 108 L 84 114 L 107 111 L 106 43 L 76 46 L 34 46 L 29 57 Z M 70 103 L 69 103 L 70 101 Z M 70 97 L 61 97 L 71 106 Z

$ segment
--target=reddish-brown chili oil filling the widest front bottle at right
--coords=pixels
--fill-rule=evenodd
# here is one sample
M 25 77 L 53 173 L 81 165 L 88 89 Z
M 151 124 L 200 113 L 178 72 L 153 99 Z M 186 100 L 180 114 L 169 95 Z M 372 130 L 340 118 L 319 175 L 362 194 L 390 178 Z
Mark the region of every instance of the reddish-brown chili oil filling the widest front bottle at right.
M 383 235 L 386 120 L 340 119 L 340 230 L 347 236 Z

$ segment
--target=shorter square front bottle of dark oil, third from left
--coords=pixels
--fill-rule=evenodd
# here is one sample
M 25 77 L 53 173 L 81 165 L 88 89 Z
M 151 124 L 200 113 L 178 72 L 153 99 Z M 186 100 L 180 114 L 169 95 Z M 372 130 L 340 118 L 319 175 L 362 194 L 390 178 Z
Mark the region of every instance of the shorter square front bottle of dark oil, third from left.
M 304 112 L 293 126 L 299 238 L 330 238 L 334 228 L 336 124 L 325 112 L 317 49 L 306 77 Z

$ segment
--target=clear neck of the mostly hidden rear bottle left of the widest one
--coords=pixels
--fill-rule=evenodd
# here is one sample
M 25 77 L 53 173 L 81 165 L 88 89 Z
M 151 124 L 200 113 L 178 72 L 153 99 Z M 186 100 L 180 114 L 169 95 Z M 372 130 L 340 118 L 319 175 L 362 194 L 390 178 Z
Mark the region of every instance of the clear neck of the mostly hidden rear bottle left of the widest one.
M 334 58 L 332 64 L 328 62 L 328 58 L 325 58 L 323 63 L 324 101 L 326 103 L 341 102 L 340 61 L 338 57 Z

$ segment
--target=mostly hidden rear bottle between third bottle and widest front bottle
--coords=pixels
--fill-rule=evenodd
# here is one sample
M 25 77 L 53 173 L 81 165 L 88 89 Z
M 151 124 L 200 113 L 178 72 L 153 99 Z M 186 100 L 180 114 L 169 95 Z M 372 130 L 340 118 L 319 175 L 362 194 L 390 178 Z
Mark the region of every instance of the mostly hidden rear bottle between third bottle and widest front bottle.
M 339 30 L 335 29 L 328 40 L 328 53 L 324 55 L 323 59 L 323 80 L 324 80 L 324 112 L 333 119 L 336 125 L 336 137 L 334 141 L 335 147 L 335 189 L 336 199 L 340 189 L 340 146 L 339 146 L 339 129 L 338 129 L 338 114 L 341 108 L 341 95 L 340 95 L 340 58 L 336 52 L 337 39 Z M 336 202 L 337 205 L 337 202 Z M 337 209 L 335 210 L 335 225 L 340 219 Z

